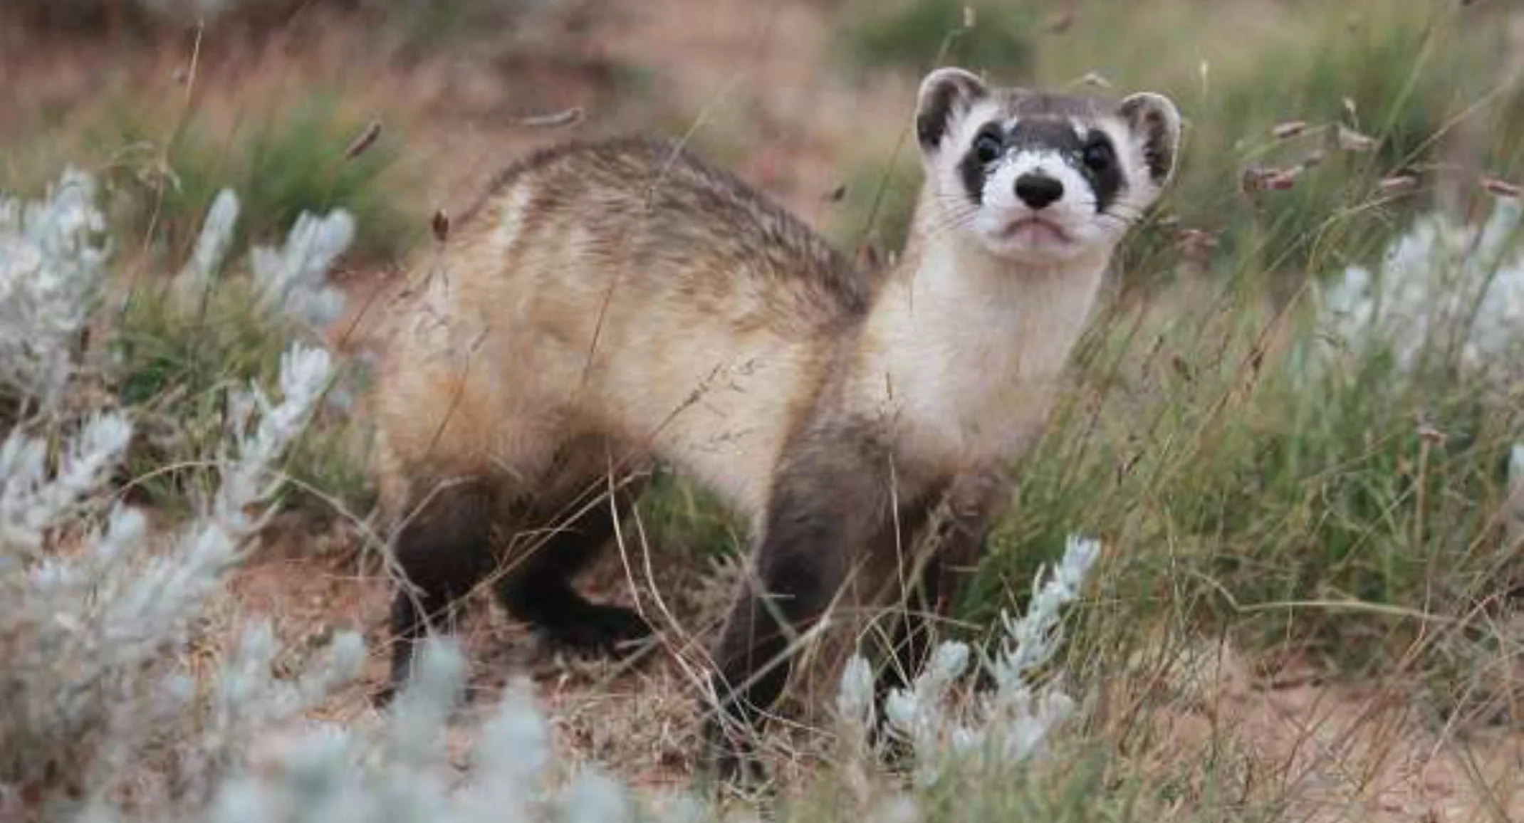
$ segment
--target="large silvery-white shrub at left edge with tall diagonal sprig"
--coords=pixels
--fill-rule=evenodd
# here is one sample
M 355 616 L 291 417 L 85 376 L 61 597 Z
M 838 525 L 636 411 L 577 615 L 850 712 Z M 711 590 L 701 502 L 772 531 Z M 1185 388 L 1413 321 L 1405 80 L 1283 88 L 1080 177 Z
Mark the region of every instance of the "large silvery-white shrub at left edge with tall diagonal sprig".
M 262 413 L 218 460 L 218 494 L 171 535 L 111 501 L 108 480 L 131 439 L 123 413 L 85 421 L 56 468 L 44 442 L 12 430 L 0 447 L 0 786 L 12 803 L 98 805 L 122 791 L 131 764 L 160 747 L 189 780 L 242 742 L 241 727 L 299 710 L 326 693 L 331 672 L 358 664 L 357 637 L 334 643 L 335 668 L 294 687 L 268 678 L 268 626 L 248 631 L 212 700 L 175 664 L 198 614 L 261 526 L 250 508 L 277 486 L 268 469 L 322 393 L 328 352 L 296 346 L 282 363 L 282 396 L 245 396 Z M 250 678 L 255 680 L 250 680 Z M 262 700 L 241 700 L 259 692 Z M 229 701 L 238 701 L 230 710 Z M 189 733 L 195 729 L 197 733 Z

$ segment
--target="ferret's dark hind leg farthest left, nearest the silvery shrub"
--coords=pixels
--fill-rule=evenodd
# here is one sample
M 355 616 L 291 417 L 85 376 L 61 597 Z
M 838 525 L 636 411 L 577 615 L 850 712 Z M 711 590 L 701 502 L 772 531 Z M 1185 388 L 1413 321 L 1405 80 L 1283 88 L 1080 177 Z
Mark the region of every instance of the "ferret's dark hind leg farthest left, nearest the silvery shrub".
M 492 517 L 491 489 L 472 480 L 437 489 L 402 526 L 396 562 L 416 591 L 401 587 L 392 602 L 392 675 L 376 703 L 390 701 L 402 687 L 416 643 L 448 625 L 457 600 L 492 568 Z

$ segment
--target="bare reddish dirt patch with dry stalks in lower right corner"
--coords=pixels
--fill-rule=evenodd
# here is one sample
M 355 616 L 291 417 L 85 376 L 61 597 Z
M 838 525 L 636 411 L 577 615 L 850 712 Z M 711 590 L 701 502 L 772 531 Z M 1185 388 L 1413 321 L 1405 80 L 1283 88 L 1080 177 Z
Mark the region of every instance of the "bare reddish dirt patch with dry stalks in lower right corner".
M 1172 683 L 1158 756 L 1224 756 L 1283 820 L 1465 821 L 1524 815 L 1524 738 L 1425 716 L 1411 683 L 1321 683 L 1311 668 L 1256 671 L 1204 645 Z M 1230 732 L 1233 750 L 1202 741 Z M 1219 802 L 1233 802 L 1221 799 Z

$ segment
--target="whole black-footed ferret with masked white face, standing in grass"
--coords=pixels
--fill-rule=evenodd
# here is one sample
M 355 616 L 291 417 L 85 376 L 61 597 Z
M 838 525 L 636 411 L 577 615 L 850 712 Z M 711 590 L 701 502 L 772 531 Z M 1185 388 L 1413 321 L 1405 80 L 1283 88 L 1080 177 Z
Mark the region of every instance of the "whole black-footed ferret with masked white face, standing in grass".
M 715 648 L 707 729 L 727 774 L 745 744 L 721 732 L 760 724 L 791 639 L 844 591 L 956 596 L 1111 250 L 1172 174 L 1180 119 L 1157 94 L 1108 104 L 940 69 L 916 134 L 927 180 L 885 271 L 643 139 L 521 160 L 419 258 L 372 399 L 416 587 L 393 607 L 393 684 L 413 640 L 494 570 L 507 608 L 552 639 L 649 634 L 570 578 L 655 462 L 753 524 L 751 576 Z M 927 532 L 933 549 L 911 556 Z M 910 611 L 893 651 L 899 677 L 925 651 Z

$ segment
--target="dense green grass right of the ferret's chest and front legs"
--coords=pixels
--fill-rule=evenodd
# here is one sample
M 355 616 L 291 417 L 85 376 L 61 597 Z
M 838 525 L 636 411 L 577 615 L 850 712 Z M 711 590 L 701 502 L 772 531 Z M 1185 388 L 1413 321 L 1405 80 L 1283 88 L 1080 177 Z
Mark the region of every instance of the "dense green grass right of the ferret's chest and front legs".
M 1097 674 L 1158 622 L 1346 674 L 1407 660 L 1440 677 L 1457 648 L 1498 648 L 1500 593 L 1524 572 L 1501 517 L 1516 396 L 1439 341 L 1417 373 L 1381 351 L 1311 370 L 1291 354 L 1317 340 L 1306 306 L 1273 317 L 1253 291 L 1225 282 L 1164 328 L 1122 312 L 1090 340 L 966 619 L 1021 602 L 1062 535 L 1085 532 L 1114 547 L 1073 646 Z M 1277 322 L 1294 344 L 1256 357 Z

